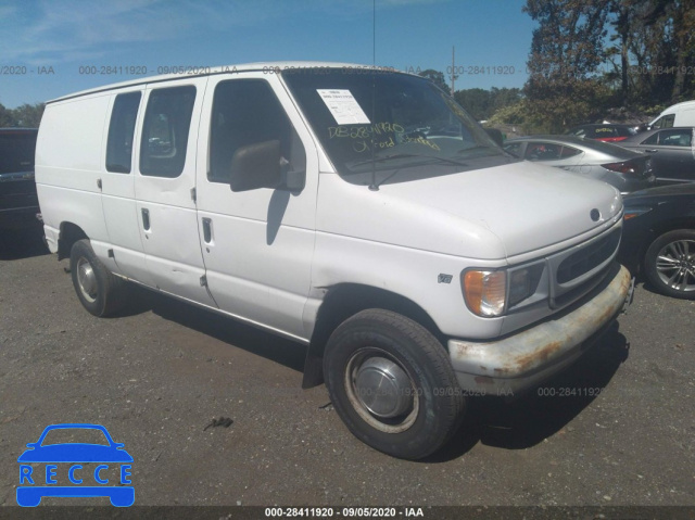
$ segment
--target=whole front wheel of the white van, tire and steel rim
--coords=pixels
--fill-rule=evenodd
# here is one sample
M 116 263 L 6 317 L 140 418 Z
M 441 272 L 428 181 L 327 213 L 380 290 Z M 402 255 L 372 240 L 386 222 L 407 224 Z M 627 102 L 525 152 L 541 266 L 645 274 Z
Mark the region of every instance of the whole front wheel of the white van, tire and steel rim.
M 324 375 L 350 431 L 395 457 L 416 460 L 437 452 L 464 416 L 465 399 L 442 344 L 390 310 L 363 310 L 340 325 L 326 345 Z

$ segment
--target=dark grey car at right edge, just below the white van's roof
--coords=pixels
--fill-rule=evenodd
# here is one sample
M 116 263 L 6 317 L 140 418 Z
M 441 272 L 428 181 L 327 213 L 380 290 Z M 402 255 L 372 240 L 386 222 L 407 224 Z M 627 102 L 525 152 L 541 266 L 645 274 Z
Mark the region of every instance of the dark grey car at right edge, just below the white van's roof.
M 694 134 L 692 126 L 657 128 L 620 141 L 620 145 L 652 156 L 658 185 L 695 181 Z

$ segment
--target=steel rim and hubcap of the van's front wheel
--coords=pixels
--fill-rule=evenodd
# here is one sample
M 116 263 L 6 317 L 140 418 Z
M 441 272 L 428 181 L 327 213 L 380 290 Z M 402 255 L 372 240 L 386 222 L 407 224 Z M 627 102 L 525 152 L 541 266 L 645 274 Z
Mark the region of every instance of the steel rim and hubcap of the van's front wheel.
M 400 372 L 394 370 L 389 377 L 384 367 L 396 367 Z M 375 379 L 369 372 L 375 371 L 382 372 L 382 395 L 365 392 L 371 388 L 365 382 Z M 419 392 L 405 367 L 386 351 L 369 346 L 353 353 L 345 367 L 344 385 L 354 410 L 370 427 L 384 433 L 401 433 L 415 423 L 420 409 Z M 390 404 L 393 409 L 386 413 Z

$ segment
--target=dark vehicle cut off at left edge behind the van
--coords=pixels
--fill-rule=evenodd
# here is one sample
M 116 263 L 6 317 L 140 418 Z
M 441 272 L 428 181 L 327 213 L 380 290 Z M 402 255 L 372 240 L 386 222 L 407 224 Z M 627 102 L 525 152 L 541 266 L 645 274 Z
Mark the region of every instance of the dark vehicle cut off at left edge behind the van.
M 37 226 L 36 128 L 0 128 L 0 231 Z

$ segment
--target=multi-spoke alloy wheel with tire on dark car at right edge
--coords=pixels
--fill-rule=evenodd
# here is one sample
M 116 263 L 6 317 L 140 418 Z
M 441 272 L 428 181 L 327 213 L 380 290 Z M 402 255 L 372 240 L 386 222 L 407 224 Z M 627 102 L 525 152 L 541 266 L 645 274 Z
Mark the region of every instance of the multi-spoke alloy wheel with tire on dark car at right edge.
M 695 230 L 677 229 L 652 242 L 644 271 L 649 284 L 661 294 L 695 300 Z

